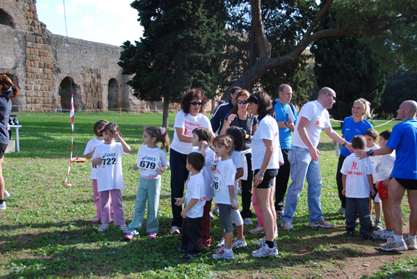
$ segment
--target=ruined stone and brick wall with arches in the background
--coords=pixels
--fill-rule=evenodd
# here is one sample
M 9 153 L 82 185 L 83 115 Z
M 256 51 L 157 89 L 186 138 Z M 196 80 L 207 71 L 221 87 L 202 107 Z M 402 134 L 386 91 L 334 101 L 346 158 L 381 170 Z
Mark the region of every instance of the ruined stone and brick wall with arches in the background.
M 0 1 L 0 74 L 20 90 L 13 110 L 67 110 L 71 90 L 76 110 L 162 110 L 161 102 L 133 96 L 129 76 L 117 65 L 120 47 L 68 38 L 67 48 L 66 37 L 38 20 L 35 3 Z

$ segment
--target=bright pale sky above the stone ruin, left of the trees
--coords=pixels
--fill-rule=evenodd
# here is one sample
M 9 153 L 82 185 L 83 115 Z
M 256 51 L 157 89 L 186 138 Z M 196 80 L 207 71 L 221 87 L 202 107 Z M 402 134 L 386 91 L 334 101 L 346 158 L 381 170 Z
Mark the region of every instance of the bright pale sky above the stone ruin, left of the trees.
M 93 42 L 122 45 L 142 35 L 138 11 L 131 8 L 133 0 L 65 0 L 68 37 Z M 63 0 L 37 0 L 40 22 L 57 35 L 65 34 Z

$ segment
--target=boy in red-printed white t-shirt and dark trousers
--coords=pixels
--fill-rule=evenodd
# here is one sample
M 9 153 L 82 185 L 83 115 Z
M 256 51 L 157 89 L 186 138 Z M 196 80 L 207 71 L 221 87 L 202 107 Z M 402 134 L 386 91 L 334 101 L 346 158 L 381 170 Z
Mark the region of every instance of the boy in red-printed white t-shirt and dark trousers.
M 357 135 L 352 139 L 352 147 L 354 151 L 363 150 L 366 140 L 363 135 Z M 366 158 L 369 159 L 369 158 Z M 373 227 L 370 222 L 370 214 L 368 210 L 369 196 L 375 194 L 373 189 L 373 176 L 375 168 L 370 160 L 359 160 L 352 153 L 347 156 L 341 169 L 343 192 L 346 196 L 346 230 L 347 237 L 354 237 L 354 228 L 357 216 L 361 227 L 359 228 L 359 239 L 377 241 L 378 237 L 373 235 Z

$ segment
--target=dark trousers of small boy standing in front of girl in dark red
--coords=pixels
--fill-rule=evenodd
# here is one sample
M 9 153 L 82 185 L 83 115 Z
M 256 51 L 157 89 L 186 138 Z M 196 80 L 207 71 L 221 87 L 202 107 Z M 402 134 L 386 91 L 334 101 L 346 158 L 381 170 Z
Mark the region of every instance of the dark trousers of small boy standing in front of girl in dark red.
M 181 248 L 188 253 L 199 253 L 202 245 L 202 219 L 186 218 L 183 219 L 181 230 Z

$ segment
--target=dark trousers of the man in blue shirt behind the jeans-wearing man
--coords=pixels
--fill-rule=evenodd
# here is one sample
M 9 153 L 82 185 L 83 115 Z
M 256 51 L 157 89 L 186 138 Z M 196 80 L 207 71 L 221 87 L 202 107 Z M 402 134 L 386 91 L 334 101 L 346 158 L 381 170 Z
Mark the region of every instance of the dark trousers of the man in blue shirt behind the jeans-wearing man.
M 275 210 L 284 211 L 284 198 L 286 189 L 288 187 L 288 180 L 290 179 L 291 164 L 288 161 L 289 149 L 282 149 L 282 156 L 284 157 L 284 164 L 279 166 L 278 175 L 275 185 Z

